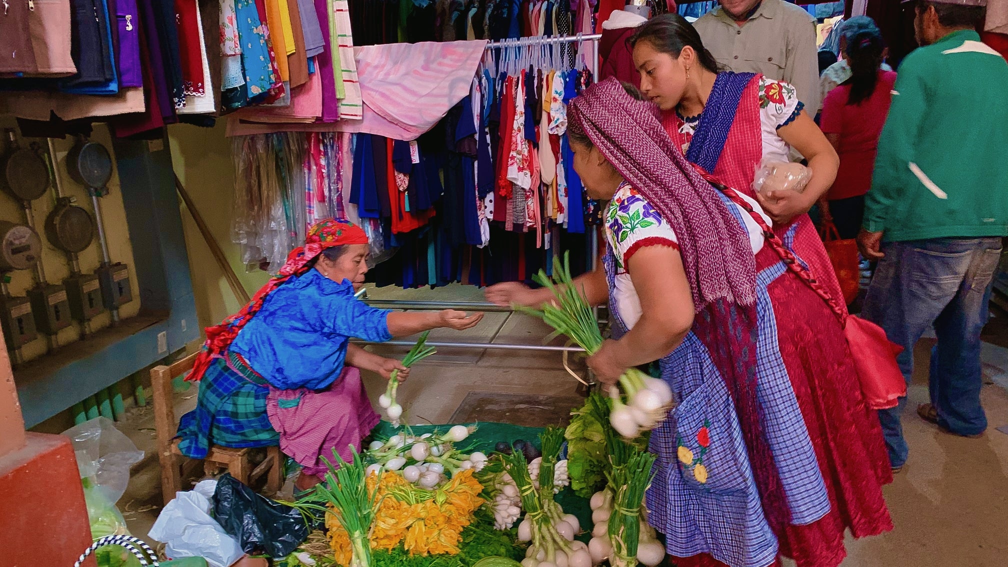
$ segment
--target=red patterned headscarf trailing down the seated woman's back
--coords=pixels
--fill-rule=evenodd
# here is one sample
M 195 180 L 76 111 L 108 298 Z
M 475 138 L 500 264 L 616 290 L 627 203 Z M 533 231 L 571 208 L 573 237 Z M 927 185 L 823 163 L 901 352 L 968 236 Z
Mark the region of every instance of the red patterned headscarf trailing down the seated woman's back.
M 273 290 L 279 288 L 291 275 L 300 275 L 307 271 L 305 265 L 313 260 L 326 248 L 333 246 L 343 246 L 344 244 L 367 244 L 368 235 L 361 227 L 350 221 L 339 219 L 326 219 L 316 223 L 308 229 L 308 235 L 304 239 L 304 245 L 298 246 L 287 255 L 287 261 L 280 268 L 276 277 L 271 278 L 265 286 L 256 292 L 252 300 L 241 311 L 228 317 L 220 325 L 207 327 L 207 342 L 203 343 L 203 350 L 196 357 L 193 371 L 190 372 L 186 380 L 199 381 L 207 372 L 210 363 L 214 358 L 223 356 L 228 347 L 234 342 L 238 332 L 255 317 L 255 314 L 262 309 L 266 296 Z

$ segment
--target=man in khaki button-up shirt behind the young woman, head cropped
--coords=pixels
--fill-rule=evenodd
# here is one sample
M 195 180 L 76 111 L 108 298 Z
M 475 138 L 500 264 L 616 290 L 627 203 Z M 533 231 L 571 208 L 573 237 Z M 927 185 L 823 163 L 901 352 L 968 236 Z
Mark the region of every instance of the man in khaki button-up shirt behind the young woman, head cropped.
M 790 83 L 808 115 L 818 112 L 823 101 L 811 14 L 784 0 L 721 0 L 694 27 L 726 69 Z

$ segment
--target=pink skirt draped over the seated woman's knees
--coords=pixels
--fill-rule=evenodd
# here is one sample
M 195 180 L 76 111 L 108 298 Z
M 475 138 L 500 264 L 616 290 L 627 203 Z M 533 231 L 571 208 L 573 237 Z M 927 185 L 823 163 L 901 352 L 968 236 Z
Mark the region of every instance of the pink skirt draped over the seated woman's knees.
M 280 450 L 316 476 L 329 471 L 323 457 L 335 465 L 335 450 L 349 461 L 350 447 L 360 451 L 361 440 L 381 421 L 368 401 L 361 371 L 353 366 L 345 366 L 328 389 L 271 386 L 266 414 L 280 434 Z

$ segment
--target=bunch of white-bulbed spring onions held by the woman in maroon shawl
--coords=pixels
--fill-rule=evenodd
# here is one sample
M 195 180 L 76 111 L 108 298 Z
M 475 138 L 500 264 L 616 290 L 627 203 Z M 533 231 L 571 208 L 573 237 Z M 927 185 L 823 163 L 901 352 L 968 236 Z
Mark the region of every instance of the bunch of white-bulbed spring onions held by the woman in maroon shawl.
M 562 263 L 559 258 L 553 259 L 552 277 L 540 269 L 533 279 L 547 288 L 555 297 L 555 302 L 545 304 L 541 310 L 521 306 L 515 306 L 515 309 L 545 321 L 554 329 L 550 338 L 566 335 L 589 355 L 598 352 L 602 347 L 602 332 L 582 290 L 578 290 L 573 282 L 569 255 L 563 255 Z M 637 368 L 627 369 L 620 376 L 619 384 L 619 388 L 610 388 L 613 398 L 610 420 L 623 437 L 633 439 L 644 431 L 654 429 L 671 409 L 672 392 L 668 385 Z

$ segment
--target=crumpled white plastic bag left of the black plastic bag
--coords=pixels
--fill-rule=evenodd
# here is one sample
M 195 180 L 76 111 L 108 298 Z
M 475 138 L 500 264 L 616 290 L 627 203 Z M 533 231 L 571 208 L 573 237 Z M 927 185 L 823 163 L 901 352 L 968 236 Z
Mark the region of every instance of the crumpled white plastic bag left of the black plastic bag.
M 204 480 L 193 490 L 175 492 L 164 505 L 147 536 L 165 544 L 170 559 L 202 557 L 211 567 L 229 567 L 245 555 L 238 540 L 210 515 L 216 489 L 216 480 Z

